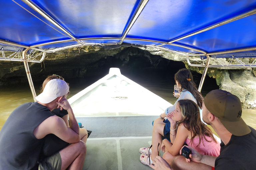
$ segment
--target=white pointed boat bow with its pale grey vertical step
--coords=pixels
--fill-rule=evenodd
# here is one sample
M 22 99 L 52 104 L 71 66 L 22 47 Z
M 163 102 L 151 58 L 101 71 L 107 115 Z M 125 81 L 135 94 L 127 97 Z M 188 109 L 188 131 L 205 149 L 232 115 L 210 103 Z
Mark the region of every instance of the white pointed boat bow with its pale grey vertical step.
M 152 121 L 169 102 L 110 68 L 109 74 L 68 99 L 90 137 L 151 136 Z

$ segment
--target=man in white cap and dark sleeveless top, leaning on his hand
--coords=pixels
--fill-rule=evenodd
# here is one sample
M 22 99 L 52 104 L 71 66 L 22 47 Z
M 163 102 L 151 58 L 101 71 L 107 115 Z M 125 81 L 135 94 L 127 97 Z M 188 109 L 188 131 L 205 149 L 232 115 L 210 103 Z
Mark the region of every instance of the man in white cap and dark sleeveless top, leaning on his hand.
M 82 169 L 86 145 L 80 140 L 78 123 L 66 99 L 68 93 L 65 81 L 50 80 L 36 97 L 38 102 L 25 103 L 11 113 L 0 131 L 1 170 Z M 51 113 L 59 107 L 68 111 L 70 127 Z M 71 144 L 39 160 L 44 137 L 50 133 Z

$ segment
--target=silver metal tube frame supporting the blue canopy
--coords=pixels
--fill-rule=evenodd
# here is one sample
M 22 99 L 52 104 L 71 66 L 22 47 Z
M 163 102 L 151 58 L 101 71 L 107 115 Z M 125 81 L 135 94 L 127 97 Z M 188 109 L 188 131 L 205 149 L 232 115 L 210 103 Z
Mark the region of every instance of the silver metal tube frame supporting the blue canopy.
M 15 2 L 16 4 L 18 4 L 15 0 L 12 0 L 12 1 Z M 138 42 L 138 44 L 140 42 L 157 43 L 155 45 L 148 45 L 147 44 L 146 46 L 151 47 L 151 48 L 157 48 L 157 49 L 160 49 L 160 50 L 166 50 L 166 51 L 170 51 L 170 52 L 174 52 L 174 53 L 177 53 L 177 54 L 180 54 L 180 55 L 187 56 L 187 62 L 190 66 L 205 67 L 203 75 L 202 75 L 202 79 L 201 79 L 201 82 L 200 82 L 200 85 L 199 85 L 199 89 L 198 89 L 199 91 L 201 91 L 201 88 L 202 88 L 202 85 L 203 85 L 208 67 L 256 67 L 256 59 L 252 63 L 246 64 L 246 63 L 243 63 L 238 58 L 236 58 L 235 56 L 232 57 L 230 63 L 228 63 L 228 64 L 224 64 L 224 63 L 220 62 L 221 64 L 211 64 L 210 65 L 211 60 L 214 60 L 214 61 L 219 60 L 218 58 L 214 57 L 214 55 L 216 55 L 216 54 L 226 54 L 226 53 L 234 53 L 234 52 L 251 51 L 251 50 L 256 50 L 256 47 L 247 47 L 247 48 L 234 49 L 234 50 L 223 50 L 223 51 L 217 51 L 217 52 L 207 52 L 207 51 L 204 51 L 204 50 L 199 49 L 199 48 L 190 47 L 189 45 L 175 43 L 179 40 L 182 40 L 182 39 L 185 39 L 185 38 L 188 38 L 188 37 L 206 32 L 208 30 L 212 30 L 213 28 L 217 28 L 219 26 L 222 26 L 222 25 L 237 21 L 239 19 L 251 16 L 253 14 L 256 14 L 256 9 L 253 9 L 253 10 L 250 10 L 249 12 L 245 12 L 245 13 L 240 14 L 238 16 L 226 19 L 226 20 L 224 20 L 222 22 L 219 22 L 217 24 L 207 26 L 207 27 L 205 27 L 205 28 L 203 28 L 199 31 L 192 32 L 190 34 L 181 36 L 179 38 L 175 38 L 173 40 L 169 40 L 169 41 L 164 42 L 164 41 L 160 41 L 160 40 L 145 39 L 145 38 L 129 38 L 129 37 L 127 38 L 127 34 L 131 30 L 131 28 L 134 26 L 134 23 L 136 22 L 136 20 L 138 19 L 138 17 L 142 13 L 143 9 L 148 4 L 149 0 L 140 0 L 139 1 L 138 6 L 135 9 L 135 11 L 133 12 L 133 15 L 132 15 L 128 25 L 126 26 L 125 30 L 123 31 L 123 34 L 122 34 L 121 37 L 104 36 L 104 37 L 90 37 L 90 38 L 78 38 L 78 37 L 74 36 L 70 31 L 65 29 L 62 26 L 62 24 L 58 23 L 53 17 L 51 17 L 46 11 L 44 11 L 42 8 L 40 8 L 35 3 L 33 3 L 32 0 L 22 0 L 22 1 L 26 5 L 28 5 L 30 8 L 32 8 L 34 11 L 36 11 L 38 14 L 40 14 L 44 19 L 48 20 L 50 23 L 52 23 L 54 26 L 56 26 L 64 34 L 57 30 L 59 33 L 65 35 L 66 37 L 69 38 L 68 40 L 55 40 L 55 41 L 52 41 L 52 42 L 45 42 L 45 43 L 40 43 L 40 44 L 35 44 L 35 45 L 24 45 L 24 44 L 19 44 L 19 43 L 16 43 L 16 42 L 11 42 L 11 41 L 0 39 L 0 43 L 7 44 L 7 45 L 13 45 L 13 46 L 20 47 L 20 48 L 21 47 L 25 48 L 25 50 L 22 52 L 22 57 L 21 57 L 21 51 L 20 50 L 18 52 L 14 52 L 13 54 L 11 54 L 9 56 L 6 56 L 5 52 L 4 52 L 5 49 L 1 48 L 0 60 L 22 61 L 22 62 L 24 62 L 24 65 L 25 65 L 25 68 L 26 68 L 26 73 L 27 73 L 27 76 L 28 76 L 28 81 L 29 81 L 29 84 L 30 84 L 30 87 L 31 87 L 31 91 L 32 91 L 34 100 L 35 100 L 36 94 L 35 94 L 33 82 L 32 82 L 32 79 L 31 79 L 31 75 L 30 75 L 30 71 L 29 71 L 29 67 L 28 67 L 28 62 L 42 62 L 45 58 L 46 53 L 55 52 L 55 51 L 58 51 L 58 50 L 63 50 L 63 49 L 72 48 L 72 47 L 85 46 L 85 45 L 97 45 L 97 44 L 114 45 L 114 44 L 122 44 L 123 41 L 135 41 L 135 42 Z M 18 5 L 22 7 L 22 5 L 20 5 L 20 4 L 18 4 Z M 25 7 L 22 7 L 22 8 L 26 10 Z M 26 10 L 26 11 L 29 12 L 28 10 Z M 31 12 L 29 12 L 29 13 L 31 13 Z M 32 15 L 35 16 L 34 14 L 32 14 Z M 38 18 L 38 17 L 36 17 L 36 18 Z M 42 22 L 44 22 L 44 21 L 42 21 Z M 96 43 L 97 40 L 118 40 L 119 42 L 115 42 L 115 43 L 114 42 L 113 43 L 111 43 L 111 42 Z M 95 42 L 93 43 L 93 42 L 86 42 L 86 41 L 95 41 Z M 74 42 L 76 44 L 62 46 L 62 47 L 58 47 L 58 48 L 55 48 L 55 49 L 42 48 L 42 46 L 45 46 L 45 45 L 65 43 L 65 42 Z M 169 49 L 167 47 L 162 47 L 163 45 L 171 45 L 171 46 L 175 46 L 175 47 L 180 47 L 180 48 L 196 51 L 198 53 L 180 52 L 180 51 Z M 29 52 L 30 50 L 37 50 L 37 51 L 41 51 L 42 53 L 40 53 L 37 56 L 33 56 L 33 53 L 31 54 Z M 1 54 L 2 54 L 2 57 L 1 57 Z M 42 57 L 40 59 L 37 59 L 37 58 L 39 58 L 39 56 L 42 56 Z M 195 57 L 198 57 L 198 56 L 199 56 L 199 59 L 202 60 L 200 64 L 194 64 L 194 63 L 190 62 L 191 58 L 195 58 Z M 200 56 L 206 56 L 206 62 L 204 61 L 204 58 L 202 58 Z M 232 64 L 233 60 L 238 61 L 239 64 Z

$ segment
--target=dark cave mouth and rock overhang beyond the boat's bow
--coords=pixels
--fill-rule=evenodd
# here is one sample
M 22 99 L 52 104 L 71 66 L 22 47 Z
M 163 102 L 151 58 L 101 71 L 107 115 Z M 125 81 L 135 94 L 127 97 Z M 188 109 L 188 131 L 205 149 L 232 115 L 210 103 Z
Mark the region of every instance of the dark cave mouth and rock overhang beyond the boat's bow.
M 135 47 L 104 50 L 98 46 L 84 46 L 47 53 L 43 62 L 29 62 L 29 69 L 33 82 L 36 82 L 50 74 L 65 78 L 94 76 L 103 72 L 107 74 L 110 67 L 161 69 L 166 68 L 169 61 Z M 0 61 L 0 85 L 19 82 L 27 82 L 24 63 Z

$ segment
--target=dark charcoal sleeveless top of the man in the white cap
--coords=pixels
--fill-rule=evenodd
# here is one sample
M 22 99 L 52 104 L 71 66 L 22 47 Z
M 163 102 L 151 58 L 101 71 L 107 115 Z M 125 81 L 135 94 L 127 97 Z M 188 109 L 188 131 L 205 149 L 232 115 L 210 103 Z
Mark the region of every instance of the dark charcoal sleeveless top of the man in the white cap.
M 0 131 L 0 170 L 38 169 L 44 139 L 37 139 L 33 131 L 52 115 L 37 102 L 25 103 L 10 114 Z

